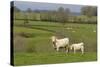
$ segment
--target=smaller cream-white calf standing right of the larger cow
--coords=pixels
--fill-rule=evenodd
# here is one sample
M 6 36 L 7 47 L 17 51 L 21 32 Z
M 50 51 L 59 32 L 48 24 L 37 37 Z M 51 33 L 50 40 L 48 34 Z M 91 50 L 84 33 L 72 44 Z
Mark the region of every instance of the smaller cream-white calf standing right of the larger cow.
M 84 43 L 77 43 L 77 44 L 72 44 L 70 46 L 70 49 L 74 49 L 74 54 L 76 53 L 76 50 L 81 50 L 82 54 L 84 54 Z

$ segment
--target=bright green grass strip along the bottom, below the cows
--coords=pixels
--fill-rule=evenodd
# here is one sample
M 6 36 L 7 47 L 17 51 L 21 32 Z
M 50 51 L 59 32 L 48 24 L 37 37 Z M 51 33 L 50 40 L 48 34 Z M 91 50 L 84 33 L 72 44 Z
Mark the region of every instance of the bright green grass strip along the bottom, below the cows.
M 55 64 L 55 63 L 72 63 L 72 62 L 89 62 L 96 61 L 96 53 L 16 53 L 15 65 L 32 65 L 32 64 Z

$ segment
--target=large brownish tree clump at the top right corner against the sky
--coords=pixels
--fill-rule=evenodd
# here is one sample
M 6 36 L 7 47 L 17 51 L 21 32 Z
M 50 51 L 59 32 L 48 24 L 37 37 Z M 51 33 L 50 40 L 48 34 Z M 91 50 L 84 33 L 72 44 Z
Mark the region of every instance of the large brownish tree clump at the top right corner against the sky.
M 81 8 L 81 14 L 88 17 L 97 16 L 97 7 L 95 6 L 85 6 Z

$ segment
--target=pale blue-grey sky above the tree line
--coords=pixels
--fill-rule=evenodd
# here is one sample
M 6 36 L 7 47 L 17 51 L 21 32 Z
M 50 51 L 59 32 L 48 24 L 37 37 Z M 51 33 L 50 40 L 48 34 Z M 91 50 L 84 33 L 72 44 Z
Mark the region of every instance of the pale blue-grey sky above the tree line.
M 14 1 L 14 6 L 21 10 L 57 10 L 59 7 L 69 8 L 71 12 L 80 12 L 83 5 L 72 5 L 72 4 L 56 4 L 56 3 L 41 3 L 41 2 L 25 2 L 25 1 Z

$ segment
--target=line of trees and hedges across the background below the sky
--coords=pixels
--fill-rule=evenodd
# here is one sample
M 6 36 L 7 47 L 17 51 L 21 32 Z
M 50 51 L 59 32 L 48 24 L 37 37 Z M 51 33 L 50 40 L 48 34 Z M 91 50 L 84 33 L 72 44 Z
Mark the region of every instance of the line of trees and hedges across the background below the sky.
M 28 8 L 26 11 L 22 11 L 16 6 L 14 9 L 14 19 L 34 21 L 51 21 L 65 24 L 67 22 L 73 23 L 97 23 L 97 7 L 84 6 L 81 8 L 79 16 L 74 16 L 69 8 L 64 9 L 59 7 L 57 10 L 32 10 Z

